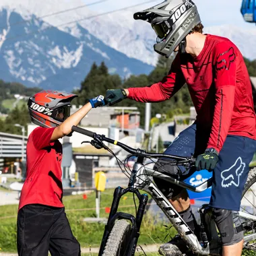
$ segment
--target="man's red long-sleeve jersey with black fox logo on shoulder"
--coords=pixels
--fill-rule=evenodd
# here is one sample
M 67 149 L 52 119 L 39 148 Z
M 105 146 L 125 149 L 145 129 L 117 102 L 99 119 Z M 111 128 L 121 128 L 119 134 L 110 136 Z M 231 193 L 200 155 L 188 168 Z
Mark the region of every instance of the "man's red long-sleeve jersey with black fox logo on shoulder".
M 243 55 L 230 40 L 207 34 L 197 57 L 178 54 L 162 82 L 129 88 L 128 98 L 139 102 L 168 100 L 185 83 L 197 123 L 211 131 L 207 148 L 220 152 L 228 134 L 256 139 L 249 74 Z

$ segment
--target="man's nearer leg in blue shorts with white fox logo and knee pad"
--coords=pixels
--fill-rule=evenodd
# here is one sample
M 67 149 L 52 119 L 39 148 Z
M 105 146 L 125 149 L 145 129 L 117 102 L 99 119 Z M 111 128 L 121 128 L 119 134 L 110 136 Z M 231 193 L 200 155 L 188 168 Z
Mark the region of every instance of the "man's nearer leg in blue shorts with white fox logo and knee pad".
M 223 256 L 241 256 L 243 226 L 237 212 L 254 152 L 253 139 L 229 135 L 214 170 L 210 206 L 220 232 Z

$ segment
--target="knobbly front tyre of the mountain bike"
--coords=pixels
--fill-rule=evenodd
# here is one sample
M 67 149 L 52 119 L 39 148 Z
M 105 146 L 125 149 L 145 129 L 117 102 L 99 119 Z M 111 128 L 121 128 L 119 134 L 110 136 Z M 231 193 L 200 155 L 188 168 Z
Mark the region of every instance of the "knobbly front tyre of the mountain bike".
M 108 236 L 102 256 L 123 256 L 130 236 L 131 224 L 117 220 Z

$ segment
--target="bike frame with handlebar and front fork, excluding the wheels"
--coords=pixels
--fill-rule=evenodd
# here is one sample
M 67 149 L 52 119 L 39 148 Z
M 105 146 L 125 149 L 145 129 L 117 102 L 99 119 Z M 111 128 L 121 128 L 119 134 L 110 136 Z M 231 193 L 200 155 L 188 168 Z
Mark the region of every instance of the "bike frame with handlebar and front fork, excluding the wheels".
M 205 232 L 207 232 L 207 238 L 210 238 L 210 243 L 207 243 L 205 245 L 204 241 L 201 245 L 197 239 L 197 236 L 193 234 L 192 230 L 187 226 L 186 222 L 181 218 L 179 213 L 174 209 L 174 207 L 171 205 L 171 203 L 164 197 L 162 192 L 154 185 L 154 182 L 152 181 L 152 177 L 158 177 L 160 179 L 164 179 L 165 181 L 168 181 L 170 184 L 176 184 L 180 187 L 183 187 L 185 189 L 189 189 L 194 192 L 201 192 L 207 189 L 208 187 L 212 186 L 212 179 L 208 179 L 201 185 L 197 187 L 193 187 L 191 185 L 188 185 L 187 183 L 184 183 L 183 181 L 178 181 L 177 179 L 174 179 L 170 177 L 167 174 L 164 174 L 162 172 L 158 172 L 157 170 L 152 170 L 151 168 L 147 168 L 143 165 L 144 158 L 149 157 L 155 157 L 155 158 L 171 158 L 172 161 L 175 160 L 176 162 L 170 162 L 170 165 L 179 165 L 183 164 L 186 166 L 189 163 L 192 162 L 191 158 L 181 157 L 181 156 L 170 156 L 170 155 L 164 155 L 164 154 L 152 154 L 147 153 L 143 150 L 140 150 L 139 148 L 137 150 L 130 148 L 129 146 L 120 143 L 119 141 L 114 141 L 113 139 L 110 139 L 108 137 L 105 137 L 104 135 L 98 135 L 96 133 L 93 133 L 92 131 L 88 131 L 86 129 L 82 129 L 80 127 L 72 127 L 72 131 L 77 131 L 78 133 L 82 133 L 84 135 L 87 135 L 89 137 L 92 137 L 93 140 L 91 141 L 91 144 L 95 146 L 96 148 L 105 148 L 108 149 L 102 143 L 102 141 L 106 141 L 108 143 L 112 143 L 114 145 L 120 146 L 130 154 L 135 154 L 135 156 L 138 156 L 137 162 L 135 162 L 133 166 L 133 170 L 131 172 L 131 177 L 129 179 L 129 184 L 127 189 L 123 189 L 121 187 L 117 187 L 115 189 L 115 193 L 113 195 L 113 203 L 111 205 L 110 214 L 108 216 L 108 222 L 105 226 L 104 235 L 102 238 L 102 243 L 100 245 L 100 253 L 99 256 L 102 255 L 104 251 L 104 247 L 106 245 L 106 241 L 108 239 L 108 236 L 110 234 L 110 231 L 112 230 L 115 221 L 120 219 L 126 219 L 131 222 L 131 230 L 130 230 L 130 238 L 129 243 L 127 243 L 127 247 L 125 249 L 125 253 L 122 256 L 134 256 L 135 249 L 137 246 L 137 240 L 139 238 L 139 228 L 141 226 L 143 214 L 145 212 L 146 204 L 148 202 L 148 195 L 146 194 L 140 194 L 138 189 L 141 189 L 143 191 L 146 191 L 149 193 L 154 201 L 156 201 L 156 204 L 160 207 L 162 212 L 166 215 L 166 217 L 170 220 L 174 228 L 179 232 L 179 235 L 185 243 L 187 243 L 187 247 L 193 251 L 194 254 L 197 255 L 220 255 L 221 253 L 221 245 L 219 243 L 219 236 L 216 230 L 216 224 L 211 218 L 211 213 L 209 211 L 209 207 L 207 205 L 203 205 L 200 209 L 200 215 L 201 215 L 201 221 L 203 225 L 205 225 Z M 139 199 L 139 207 L 137 209 L 136 216 L 132 216 L 131 214 L 126 214 L 123 212 L 117 212 L 119 207 L 119 201 L 125 193 L 135 193 L 137 198 Z M 253 216 L 251 214 L 245 214 L 244 212 L 239 212 L 239 216 L 245 218 L 246 220 L 253 220 L 256 222 L 256 216 Z M 203 228 L 204 229 L 204 228 Z M 244 236 L 245 243 L 255 240 L 256 234 L 249 234 L 247 236 Z

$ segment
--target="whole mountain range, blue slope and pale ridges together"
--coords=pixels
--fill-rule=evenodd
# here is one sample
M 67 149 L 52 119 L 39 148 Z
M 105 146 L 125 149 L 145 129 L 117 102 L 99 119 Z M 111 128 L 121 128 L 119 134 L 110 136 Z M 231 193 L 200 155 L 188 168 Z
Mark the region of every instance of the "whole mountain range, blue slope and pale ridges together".
M 71 90 L 94 61 L 104 61 L 110 73 L 121 77 L 148 74 L 158 60 L 156 34 L 147 22 L 133 20 L 141 9 L 101 15 L 82 0 L 1 0 L 0 77 Z M 223 25 L 204 32 L 230 38 L 245 57 L 256 59 L 256 30 Z

